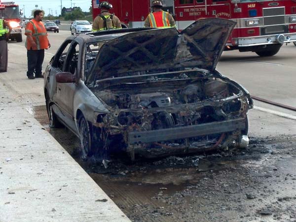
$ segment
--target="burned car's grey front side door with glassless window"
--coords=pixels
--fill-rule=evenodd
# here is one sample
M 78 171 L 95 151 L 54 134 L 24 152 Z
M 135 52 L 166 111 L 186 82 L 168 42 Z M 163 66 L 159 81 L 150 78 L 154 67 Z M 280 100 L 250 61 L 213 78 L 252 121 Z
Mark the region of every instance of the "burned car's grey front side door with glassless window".
M 79 57 L 79 44 L 75 40 L 72 41 L 70 49 L 66 55 L 63 72 L 70 72 L 74 79 L 77 79 L 78 71 L 81 66 Z M 59 116 L 62 116 L 64 124 L 75 131 L 75 123 L 73 118 L 73 98 L 76 89 L 76 84 L 73 83 L 58 83 L 56 87 L 55 103 L 59 107 Z

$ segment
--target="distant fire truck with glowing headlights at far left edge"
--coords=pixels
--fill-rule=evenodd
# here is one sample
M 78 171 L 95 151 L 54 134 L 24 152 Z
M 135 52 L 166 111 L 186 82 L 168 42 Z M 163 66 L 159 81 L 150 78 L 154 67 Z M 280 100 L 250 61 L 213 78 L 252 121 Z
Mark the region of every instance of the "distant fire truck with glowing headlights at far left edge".
M 0 17 L 9 22 L 12 28 L 9 38 L 17 42 L 23 41 L 19 5 L 13 1 L 0 2 L 0 4 L 4 7 L 4 10 L 0 10 Z

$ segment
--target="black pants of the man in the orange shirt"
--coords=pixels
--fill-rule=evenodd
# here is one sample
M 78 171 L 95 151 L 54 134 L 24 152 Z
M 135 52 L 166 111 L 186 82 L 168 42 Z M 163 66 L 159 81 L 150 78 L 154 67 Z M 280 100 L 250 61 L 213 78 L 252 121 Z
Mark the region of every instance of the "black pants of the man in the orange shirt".
M 44 49 L 28 50 L 28 71 L 27 76 L 42 75 L 42 63 L 44 60 Z

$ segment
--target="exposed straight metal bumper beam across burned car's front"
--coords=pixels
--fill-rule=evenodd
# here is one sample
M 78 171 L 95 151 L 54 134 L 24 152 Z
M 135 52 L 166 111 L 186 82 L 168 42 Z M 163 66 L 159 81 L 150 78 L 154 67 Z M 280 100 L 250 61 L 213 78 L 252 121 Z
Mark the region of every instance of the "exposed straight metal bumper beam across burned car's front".
M 243 130 L 245 128 L 246 120 L 244 118 L 240 118 L 187 127 L 175 127 L 148 131 L 132 131 L 128 133 L 128 143 L 132 145 L 183 139 L 215 133 L 231 132 L 234 130 Z

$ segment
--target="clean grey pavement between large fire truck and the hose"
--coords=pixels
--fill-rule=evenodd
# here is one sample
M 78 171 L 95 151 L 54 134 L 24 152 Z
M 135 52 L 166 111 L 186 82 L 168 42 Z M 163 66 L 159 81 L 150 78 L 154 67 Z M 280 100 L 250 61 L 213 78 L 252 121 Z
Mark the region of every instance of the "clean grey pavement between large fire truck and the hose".
M 241 83 L 251 95 L 296 107 L 296 47 L 282 46 L 272 57 L 253 52 L 223 52 L 217 69 Z

